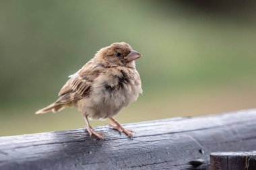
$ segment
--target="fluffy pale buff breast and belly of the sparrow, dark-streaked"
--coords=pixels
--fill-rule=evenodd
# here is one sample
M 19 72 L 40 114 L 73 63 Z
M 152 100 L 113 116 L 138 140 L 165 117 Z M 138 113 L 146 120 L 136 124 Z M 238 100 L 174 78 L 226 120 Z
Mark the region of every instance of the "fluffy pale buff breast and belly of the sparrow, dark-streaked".
M 141 80 L 136 70 L 110 70 L 100 75 L 90 95 L 88 107 L 92 118 L 115 116 L 142 93 Z

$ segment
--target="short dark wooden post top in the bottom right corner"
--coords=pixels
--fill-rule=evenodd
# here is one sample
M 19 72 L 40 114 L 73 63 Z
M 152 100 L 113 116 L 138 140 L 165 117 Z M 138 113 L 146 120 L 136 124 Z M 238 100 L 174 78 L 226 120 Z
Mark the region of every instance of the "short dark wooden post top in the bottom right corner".
M 211 170 L 255 170 L 256 151 L 212 153 Z

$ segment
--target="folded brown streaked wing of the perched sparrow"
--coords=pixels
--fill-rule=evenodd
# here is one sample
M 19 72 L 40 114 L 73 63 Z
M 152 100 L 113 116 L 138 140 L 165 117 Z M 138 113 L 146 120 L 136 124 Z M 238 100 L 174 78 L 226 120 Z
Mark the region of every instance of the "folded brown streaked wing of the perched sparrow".
M 57 103 L 70 103 L 82 99 L 90 94 L 90 87 L 94 80 L 100 75 L 104 67 L 88 62 L 82 69 L 74 75 L 69 76 L 69 80 L 59 91 Z

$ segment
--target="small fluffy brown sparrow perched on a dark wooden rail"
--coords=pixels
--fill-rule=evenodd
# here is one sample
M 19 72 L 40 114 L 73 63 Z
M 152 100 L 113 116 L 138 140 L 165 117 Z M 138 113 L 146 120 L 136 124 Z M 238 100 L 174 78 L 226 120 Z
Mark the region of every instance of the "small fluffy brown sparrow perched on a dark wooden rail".
M 132 137 L 133 131 L 123 128 L 113 116 L 142 93 L 141 80 L 135 68 L 135 60 L 140 56 L 125 42 L 100 49 L 82 69 L 69 76 L 59 91 L 59 99 L 36 114 L 77 107 L 82 112 L 90 136 L 94 134 L 104 138 L 90 126 L 88 118 L 108 118 L 113 122 L 108 126 Z

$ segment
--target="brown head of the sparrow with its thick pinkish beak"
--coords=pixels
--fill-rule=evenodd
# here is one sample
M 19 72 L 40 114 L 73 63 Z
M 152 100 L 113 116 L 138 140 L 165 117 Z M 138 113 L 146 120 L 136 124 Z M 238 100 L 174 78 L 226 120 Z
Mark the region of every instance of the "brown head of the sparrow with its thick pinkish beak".
M 115 42 L 110 46 L 100 49 L 96 58 L 100 59 L 105 65 L 118 65 L 133 67 L 134 60 L 141 57 L 139 52 L 133 50 L 125 42 Z

